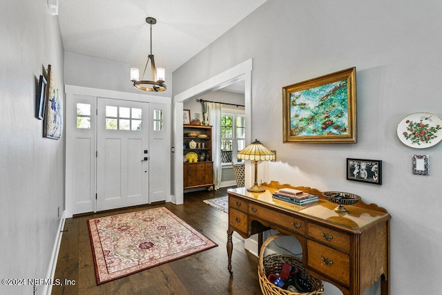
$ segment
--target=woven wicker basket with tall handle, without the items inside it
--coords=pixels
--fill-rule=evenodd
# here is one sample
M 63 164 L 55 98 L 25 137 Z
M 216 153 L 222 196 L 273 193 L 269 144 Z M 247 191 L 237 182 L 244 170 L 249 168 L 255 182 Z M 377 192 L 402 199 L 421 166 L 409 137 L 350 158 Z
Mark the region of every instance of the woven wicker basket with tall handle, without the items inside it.
M 280 238 L 283 236 L 282 234 L 276 234 L 274 236 L 271 236 L 268 238 L 265 242 L 262 243 L 262 247 L 260 249 L 260 260 L 258 264 L 258 277 L 260 280 L 260 287 L 262 294 L 270 295 L 270 294 L 284 294 L 284 295 L 317 295 L 317 294 L 323 294 L 324 293 L 324 285 L 323 282 L 318 280 L 317 278 L 314 278 L 307 272 L 304 265 L 302 265 L 302 262 L 290 255 L 285 254 L 271 254 L 269 256 L 264 257 L 264 251 L 265 247 L 269 245 L 269 243 L 276 238 Z M 269 274 L 275 274 L 279 273 L 282 269 L 282 265 L 284 263 L 289 263 L 289 265 L 293 267 L 297 267 L 300 269 L 299 275 L 304 278 L 304 280 L 308 281 L 311 286 L 313 287 L 314 291 L 307 292 L 307 293 L 296 293 L 296 292 L 290 292 L 286 289 L 282 289 L 280 287 L 277 287 L 276 285 L 273 285 L 270 283 L 267 276 Z

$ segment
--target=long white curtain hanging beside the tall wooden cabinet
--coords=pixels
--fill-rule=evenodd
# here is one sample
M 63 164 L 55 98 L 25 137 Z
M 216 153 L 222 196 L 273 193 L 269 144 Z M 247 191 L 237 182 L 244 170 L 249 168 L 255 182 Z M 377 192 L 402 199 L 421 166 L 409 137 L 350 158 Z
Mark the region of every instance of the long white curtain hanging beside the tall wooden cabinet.
M 221 182 L 221 104 L 204 102 L 204 108 L 209 113 L 209 125 L 212 127 L 212 161 L 213 184 L 215 190 L 220 188 Z

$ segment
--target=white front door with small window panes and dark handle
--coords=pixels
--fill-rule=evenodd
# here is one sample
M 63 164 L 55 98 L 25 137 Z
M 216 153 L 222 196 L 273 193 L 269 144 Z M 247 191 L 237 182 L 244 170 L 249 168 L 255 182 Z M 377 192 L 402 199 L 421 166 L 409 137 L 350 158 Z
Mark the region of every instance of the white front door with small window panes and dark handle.
M 147 102 L 97 98 L 97 211 L 148 204 Z

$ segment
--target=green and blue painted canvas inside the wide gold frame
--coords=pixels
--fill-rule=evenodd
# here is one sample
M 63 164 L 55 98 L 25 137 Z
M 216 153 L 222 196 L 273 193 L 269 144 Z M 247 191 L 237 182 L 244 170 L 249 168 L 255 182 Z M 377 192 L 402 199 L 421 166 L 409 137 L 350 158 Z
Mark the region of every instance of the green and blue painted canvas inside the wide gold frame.
M 291 136 L 347 135 L 347 79 L 290 93 Z

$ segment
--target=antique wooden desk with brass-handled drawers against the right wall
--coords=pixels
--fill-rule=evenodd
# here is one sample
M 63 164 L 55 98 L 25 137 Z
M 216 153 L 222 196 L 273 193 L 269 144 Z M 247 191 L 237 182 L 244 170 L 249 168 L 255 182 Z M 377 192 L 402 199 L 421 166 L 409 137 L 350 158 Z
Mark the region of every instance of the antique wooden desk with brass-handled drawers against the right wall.
M 317 189 L 278 182 L 262 186 L 264 193 L 249 193 L 244 188 L 228 191 L 227 256 L 231 274 L 233 231 L 249 238 L 276 229 L 300 241 L 302 263 L 310 274 L 336 285 L 343 294 L 363 294 L 380 277 L 381 294 L 389 294 L 391 216 L 385 209 L 361 200 L 346 206 L 348 214 L 336 213 L 336 204 L 325 200 Z M 282 187 L 312 193 L 319 200 L 302 207 L 273 200 L 273 191 Z

